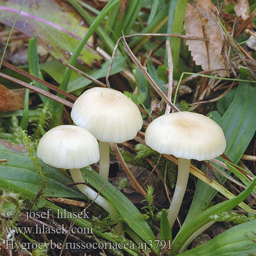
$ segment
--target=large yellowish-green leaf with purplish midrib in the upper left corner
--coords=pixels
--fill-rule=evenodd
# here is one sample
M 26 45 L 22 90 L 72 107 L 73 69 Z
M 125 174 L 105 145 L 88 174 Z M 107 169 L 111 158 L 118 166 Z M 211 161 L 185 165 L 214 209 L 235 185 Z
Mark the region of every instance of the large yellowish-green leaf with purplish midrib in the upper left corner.
M 0 0 L 0 22 L 11 27 L 23 0 Z M 87 28 L 84 21 L 67 3 L 56 0 L 27 0 L 15 25 L 15 29 L 29 37 L 37 35 L 39 44 L 56 59 L 68 62 Z M 79 61 L 93 67 L 102 57 L 92 47 L 93 39 L 84 48 Z

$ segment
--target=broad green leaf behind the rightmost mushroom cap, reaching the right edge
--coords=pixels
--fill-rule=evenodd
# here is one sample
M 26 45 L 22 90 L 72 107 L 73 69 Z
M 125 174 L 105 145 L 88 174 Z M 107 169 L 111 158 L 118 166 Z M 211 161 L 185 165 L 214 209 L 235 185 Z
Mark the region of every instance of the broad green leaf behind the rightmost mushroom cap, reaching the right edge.
M 243 70 L 241 72 L 241 78 L 245 79 Z M 235 164 L 242 157 L 255 133 L 256 111 L 252 111 L 255 109 L 256 87 L 251 87 L 248 82 L 240 82 L 236 96 L 221 119 L 222 130 L 227 141 L 224 154 Z M 225 181 L 223 176 L 218 176 L 222 182 Z M 192 204 L 183 225 L 185 226 L 194 220 L 216 194 L 217 191 L 215 189 L 199 180 Z

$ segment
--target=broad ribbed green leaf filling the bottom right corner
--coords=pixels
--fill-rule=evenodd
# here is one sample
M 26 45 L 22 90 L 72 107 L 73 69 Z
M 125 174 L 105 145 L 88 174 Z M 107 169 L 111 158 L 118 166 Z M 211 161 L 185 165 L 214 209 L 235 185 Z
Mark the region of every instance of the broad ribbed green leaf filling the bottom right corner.
M 256 220 L 234 226 L 209 242 L 180 256 L 248 256 L 256 252 Z M 251 253 L 251 254 L 250 254 Z

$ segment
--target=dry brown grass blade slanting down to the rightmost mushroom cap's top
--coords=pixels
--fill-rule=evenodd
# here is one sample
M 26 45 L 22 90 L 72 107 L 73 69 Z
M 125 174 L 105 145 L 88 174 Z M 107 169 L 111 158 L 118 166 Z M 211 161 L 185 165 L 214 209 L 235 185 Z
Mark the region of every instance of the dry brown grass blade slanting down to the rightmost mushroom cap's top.
M 127 45 L 127 42 L 125 41 L 125 38 L 123 37 L 123 49 L 125 52 L 130 56 L 130 58 L 133 60 L 135 65 L 139 68 L 139 70 L 142 72 L 142 74 L 145 76 L 148 82 L 152 85 L 152 87 L 156 90 L 156 92 L 163 98 L 163 100 L 172 108 L 174 112 L 179 112 L 179 109 L 171 102 L 166 95 L 161 91 L 161 89 L 158 87 L 156 82 L 152 79 L 152 77 L 146 72 L 146 70 L 143 68 L 141 63 L 138 61 L 136 56 L 133 54 L 130 47 Z

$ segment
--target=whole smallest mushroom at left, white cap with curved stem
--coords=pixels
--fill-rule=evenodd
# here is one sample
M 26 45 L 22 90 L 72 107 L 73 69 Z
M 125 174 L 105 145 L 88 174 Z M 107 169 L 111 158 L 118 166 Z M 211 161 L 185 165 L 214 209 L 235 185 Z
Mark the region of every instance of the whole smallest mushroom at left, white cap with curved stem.
M 115 207 L 91 187 L 86 185 L 81 167 L 99 160 L 99 145 L 86 129 L 75 125 L 59 125 L 42 136 L 37 146 L 37 156 L 45 163 L 57 168 L 70 169 L 77 188 L 106 211 L 117 213 Z M 118 227 L 117 230 L 120 230 Z

